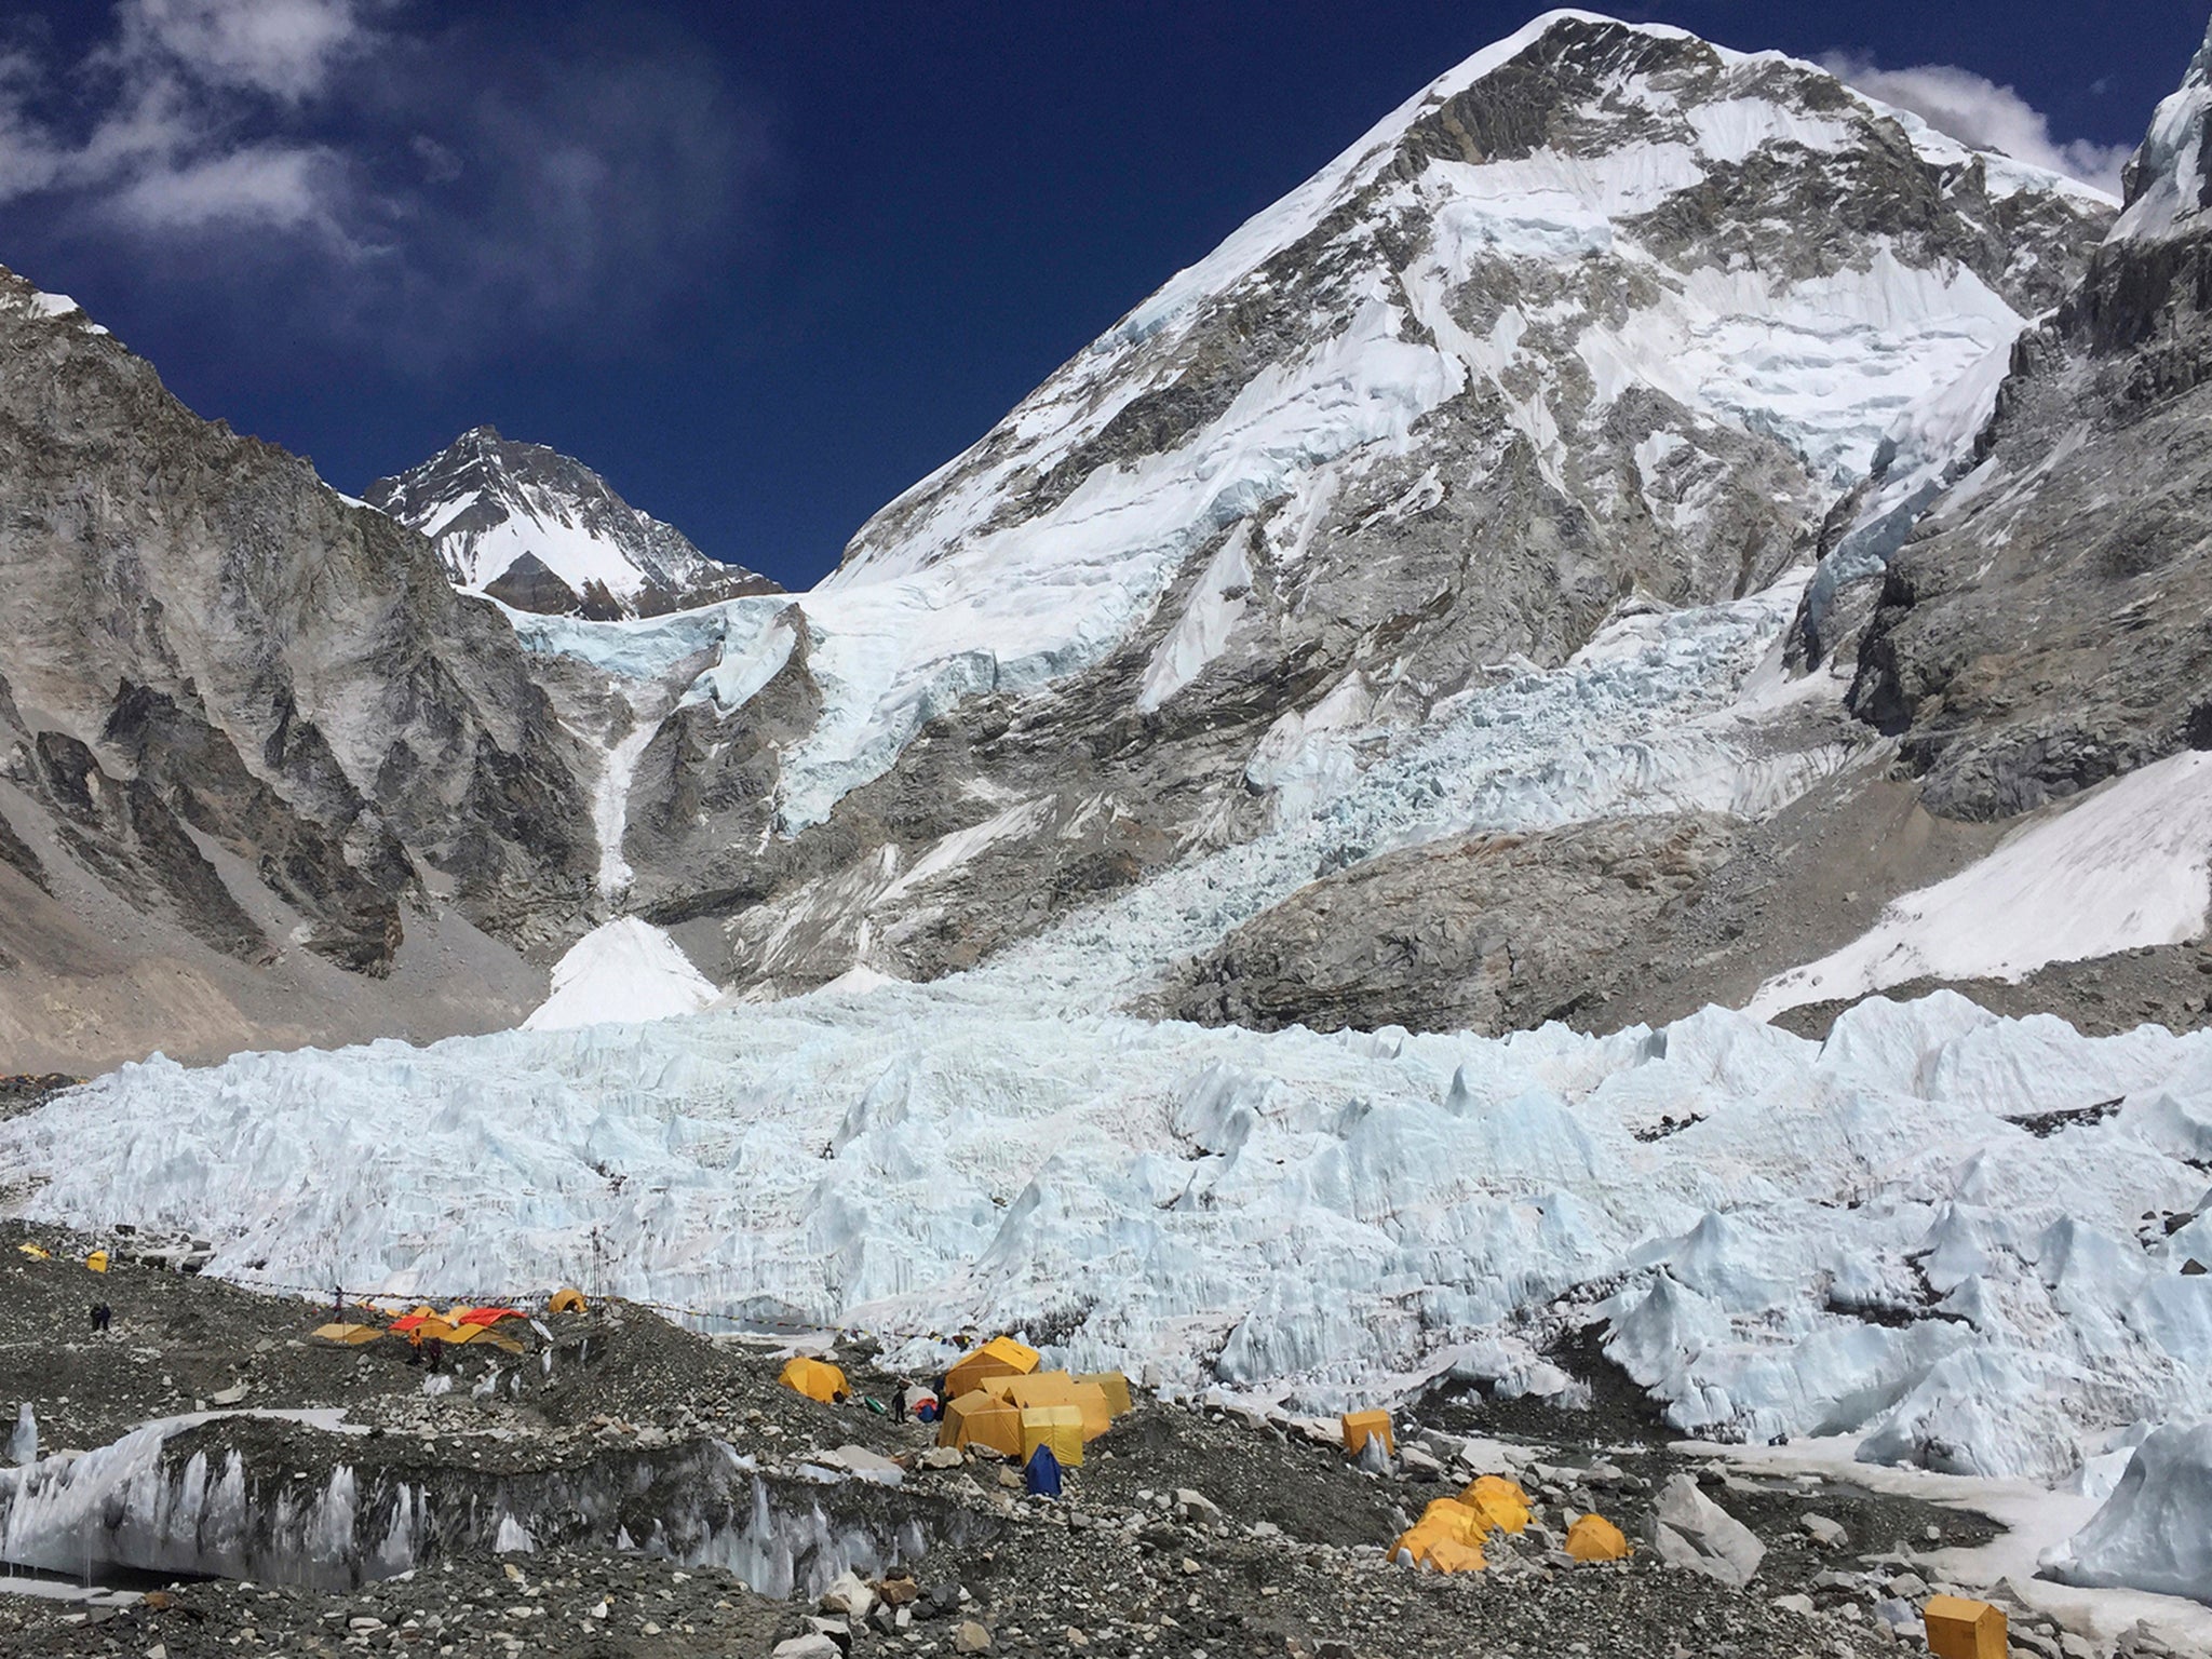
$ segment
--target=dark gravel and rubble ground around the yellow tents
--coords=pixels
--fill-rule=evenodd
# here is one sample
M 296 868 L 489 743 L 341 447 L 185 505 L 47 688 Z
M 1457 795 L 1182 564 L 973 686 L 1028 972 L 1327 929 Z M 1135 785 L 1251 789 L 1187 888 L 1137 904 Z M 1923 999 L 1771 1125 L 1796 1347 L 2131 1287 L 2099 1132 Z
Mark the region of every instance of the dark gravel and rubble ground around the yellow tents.
M 22 1256 L 24 1241 L 53 1259 Z M 1400 1413 L 1394 1473 L 1352 1467 L 1321 1425 L 1139 1398 L 1071 1471 L 1066 1500 L 1044 1504 L 1026 1500 L 1000 1460 L 936 1467 L 945 1460 L 925 1458 L 929 1429 L 858 1400 L 805 1400 L 776 1385 L 779 1360 L 763 1347 L 706 1340 L 639 1307 L 540 1316 L 544 1332 L 526 1334 L 524 1356 L 467 1352 L 456 1387 L 425 1396 L 425 1371 L 398 1343 L 305 1340 L 323 1305 L 131 1263 L 100 1279 L 82 1265 L 86 1243 L 0 1228 L 0 1416 L 31 1400 L 49 1451 L 104 1444 L 243 1385 L 246 1411 L 338 1407 L 356 1431 L 230 1416 L 190 1429 L 175 1455 L 239 1451 L 301 1493 L 345 1462 L 363 1493 L 387 1478 L 431 1484 L 449 1513 L 493 1491 L 597 1480 L 624 1489 L 635 1522 L 695 1495 L 688 1471 L 726 1464 L 730 1447 L 763 1478 L 818 1493 L 807 1502 L 905 1522 L 927 1540 L 902 1568 L 914 1579 L 883 1586 L 900 1608 L 843 1619 L 854 1652 L 960 1652 L 987 1637 L 991 1652 L 1192 1659 L 1851 1659 L 1896 1646 L 1876 1613 L 1882 1601 L 1896 1608 L 1896 1597 L 1933 1588 L 1900 1579 L 1920 1553 L 1993 1535 L 1978 1515 L 1845 1482 L 1745 1480 L 1688 1460 L 1648 1402 L 1573 1336 L 1553 1354 L 1590 1385 L 1590 1409 L 1440 1394 Z M 115 1310 L 111 1336 L 84 1329 L 93 1296 Z M 867 1352 L 838 1358 L 856 1394 L 891 1394 L 896 1378 Z M 478 1396 L 493 1371 L 495 1387 Z M 805 1484 L 803 1467 L 838 1447 L 896 1458 L 900 1484 Z M 1389 1542 L 1422 1504 L 1478 1471 L 1517 1473 L 1535 1526 L 1495 1542 L 1482 1575 L 1391 1564 Z M 1657 1489 L 1683 1471 L 1767 1544 L 1747 1588 L 1661 1566 L 1650 1548 L 1615 1566 L 1568 1566 L 1555 1553 L 1564 1526 L 1590 1509 L 1641 1537 Z M 1818 1542 L 1807 1515 L 1840 1526 L 1843 1542 Z M 219 1579 L 155 1588 L 139 1577 L 102 1604 L 0 1595 L 0 1659 L 770 1655 L 823 1617 L 712 1566 L 606 1546 L 582 1524 L 504 1557 L 480 1540 L 442 1540 L 422 1562 L 354 1590 Z M 2066 1659 L 2057 1632 L 2048 1637 L 2053 1652 L 2039 1659 Z M 2157 1648 L 2141 1655 L 2157 1659 Z

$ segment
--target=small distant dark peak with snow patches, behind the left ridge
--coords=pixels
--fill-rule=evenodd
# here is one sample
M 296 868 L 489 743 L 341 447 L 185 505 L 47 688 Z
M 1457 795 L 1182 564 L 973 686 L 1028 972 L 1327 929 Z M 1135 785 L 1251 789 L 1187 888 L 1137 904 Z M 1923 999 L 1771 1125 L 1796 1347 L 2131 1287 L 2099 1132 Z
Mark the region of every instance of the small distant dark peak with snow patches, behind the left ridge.
M 376 480 L 367 500 L 431 538 L 456 586 L 520 611 L 637 617 L 776 591 L 706 557 L 584 462 L 489 425 Z

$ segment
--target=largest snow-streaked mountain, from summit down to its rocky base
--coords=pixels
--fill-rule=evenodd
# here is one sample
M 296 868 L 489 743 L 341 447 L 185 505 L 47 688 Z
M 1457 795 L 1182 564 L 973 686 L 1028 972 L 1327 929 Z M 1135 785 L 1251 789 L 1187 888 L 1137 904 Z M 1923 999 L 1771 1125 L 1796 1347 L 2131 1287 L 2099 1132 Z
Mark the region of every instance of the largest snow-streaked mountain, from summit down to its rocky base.
M 646 752 L 633 902 L 734 918 L 765 991 L 925 978 L 1321 810 L 1498 675 L 1809 560 L 2112 212 L 1812 64 L 1540 18 L 872 518 Z

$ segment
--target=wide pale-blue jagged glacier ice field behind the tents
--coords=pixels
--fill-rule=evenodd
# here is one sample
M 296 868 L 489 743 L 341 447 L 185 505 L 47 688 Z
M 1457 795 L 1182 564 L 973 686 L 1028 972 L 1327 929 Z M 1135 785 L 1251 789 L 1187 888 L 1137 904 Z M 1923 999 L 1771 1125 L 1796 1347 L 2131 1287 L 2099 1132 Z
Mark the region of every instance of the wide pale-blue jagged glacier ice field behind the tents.
M 31 1214 L 192 1228 L 246 1283 L 588 1279 L 867 1329 L 894 1365 L 1040 1329 L 1329 1409 L 1511 1389 L 1584 1307 L 1710 1438 L 2055 1482 L 2212 1413 L 2212 1279 L 2137 1239 L 2205 1199 L 2212 1037 L 1949 993 L 1818 1044 L 1721 1009 L 1482 1040 L 1148 1024 L 975 975 L 153 1060 L 0 1126 L 0 1161 Z

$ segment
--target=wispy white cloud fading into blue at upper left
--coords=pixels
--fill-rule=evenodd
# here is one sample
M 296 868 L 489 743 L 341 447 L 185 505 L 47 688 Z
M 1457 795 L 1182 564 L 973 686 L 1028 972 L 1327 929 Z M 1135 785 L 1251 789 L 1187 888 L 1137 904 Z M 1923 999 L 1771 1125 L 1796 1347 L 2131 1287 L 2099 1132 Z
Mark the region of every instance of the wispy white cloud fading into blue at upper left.
M 0 204 L 420 365 L 613 338 L 728 259 L 765 139 L 690 42 L 396 11 L 115 0 L 73 64 L 0 49 Z

